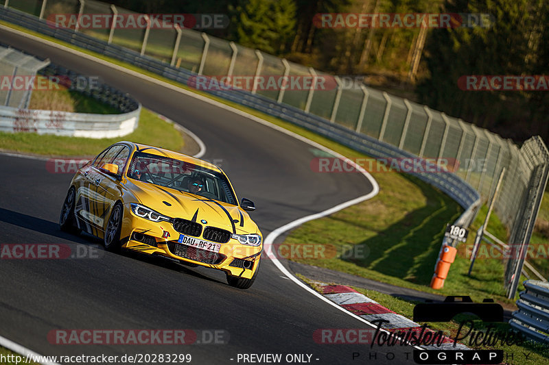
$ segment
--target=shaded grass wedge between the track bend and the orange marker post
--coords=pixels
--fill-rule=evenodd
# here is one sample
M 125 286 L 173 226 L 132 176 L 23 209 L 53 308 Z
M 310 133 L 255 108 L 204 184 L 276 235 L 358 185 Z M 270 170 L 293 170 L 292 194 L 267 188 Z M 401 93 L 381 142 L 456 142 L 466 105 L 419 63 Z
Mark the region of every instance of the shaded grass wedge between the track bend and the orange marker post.
M 458 218 L 461 210 L 447 195 L 422 181 L 406 178 L 412 179 L 421 189 L 427 199 L 425 207 L 406 214 L 397 223 L 353 247 L 354 252 L 364 250 L 366 257 L 353 257 L 349 251 L 342 253 L 341 257 L 351 257 L 342 260 L 384 275 L 429 285 L 444 228 Z

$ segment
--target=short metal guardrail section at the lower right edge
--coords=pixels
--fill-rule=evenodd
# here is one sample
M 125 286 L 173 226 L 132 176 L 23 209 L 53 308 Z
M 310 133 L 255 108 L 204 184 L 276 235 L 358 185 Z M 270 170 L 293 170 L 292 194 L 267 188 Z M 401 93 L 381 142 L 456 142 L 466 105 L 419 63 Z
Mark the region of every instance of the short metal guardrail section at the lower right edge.
M 532 340 L 549 344 L 549 284 L 526 280 L 509 325 Z

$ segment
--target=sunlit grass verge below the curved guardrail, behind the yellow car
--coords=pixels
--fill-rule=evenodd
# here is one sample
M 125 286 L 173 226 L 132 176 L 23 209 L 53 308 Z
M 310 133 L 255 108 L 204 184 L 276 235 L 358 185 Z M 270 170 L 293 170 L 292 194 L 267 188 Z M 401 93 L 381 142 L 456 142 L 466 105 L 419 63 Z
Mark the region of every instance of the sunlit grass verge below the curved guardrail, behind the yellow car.
M 183 138 L 174 125 L 163 121 L 150 110 L 142 108 L 139 127 L 128 136 L 95 139 L 23 132 L 0 132 L 0 149 L 51 157 L 91 157 L 119 140 L 152 144 L 172 151 L 179 151 L 183 147 Z

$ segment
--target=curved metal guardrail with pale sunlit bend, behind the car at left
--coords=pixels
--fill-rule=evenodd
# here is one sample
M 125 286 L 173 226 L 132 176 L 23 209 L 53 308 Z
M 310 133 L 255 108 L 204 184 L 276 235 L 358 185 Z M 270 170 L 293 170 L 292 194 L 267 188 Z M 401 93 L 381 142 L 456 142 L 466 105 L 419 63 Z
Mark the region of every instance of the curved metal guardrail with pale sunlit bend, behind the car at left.
M 141 104 L 130 95 L 99 80 L 95 84 L 86 82 L 82 86 L 79 81 L 88 79 L 83 75 L 56 64 L 34 59 L 36 64 L 43 67 L 38 71 L 38 75 L 58 77 L 62 86 L 66 86 L 69 90 L 78 90 L 84 95 L 106 103 L 119 110 L 121 114 L 73 113 L 0 106 L 0 131 L 34 132 L 86 138 L 117 138 L 130 134 L 139 125 Z

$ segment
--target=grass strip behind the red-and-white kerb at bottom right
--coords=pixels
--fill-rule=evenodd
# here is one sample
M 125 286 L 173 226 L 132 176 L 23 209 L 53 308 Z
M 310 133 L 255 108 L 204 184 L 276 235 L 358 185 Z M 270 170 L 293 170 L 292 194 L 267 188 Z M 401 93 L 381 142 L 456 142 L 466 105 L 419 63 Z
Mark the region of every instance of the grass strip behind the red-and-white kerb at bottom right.
M 322 292 L 321 287 L 316 284 L 315 281 L 307 279 L 307 277 L 304 277 L 303 275 L 298 276 L 314 290 L 320 293 Z M 334 283 L 329 284 L 333 285 Z M 351 288 L 366 295 L 366 297 L 377 301 L 377 303 L 383 305 L 389 310 L 397 312 L 398 314 L 401 314 L 402 316 L 413 320 L 414 306 L 419 302 L 404 300 L 399 297 L 393 297 L 392 295 L 383 294 L 374 290 L 366 290 L 363 288 L 355 287 Z M 460 329 L 460 325 L 462 323 L 463 327 Z M 423 325 L 423 323 L 419 323 L 419 325 Z M 445 336 L 448 336 L 452 339 L 456 338 L 456 336 L 459 334 L 459 338 L 463 338 L 463 340 L 459 340 L 458 342 L 465 344 L 465 346 L 469 347 L 470 349 L 503 350 L 505 364 L 541 365 L 547 364 L 548 361 L 547 358 L 549 357 L 549 348 L 545 344 L 540 344 L 538 342 L 526 340 L 522 344 L 512 345 L 500 344 L 500 342 L 498 342 L 498 344 L 488 346 L 486 344 L 479 343 L 482 339 L 482 337 L 479 336 L 479 340 L 477 342 L 478 344 L 475 343 L 475 334 L 479 332 L 487 332 L 488 325 L 493 325 L 493 329 L 491 329 L 491 331 L 497 331 L 498 333 L 507 333 L 511 331 L 511 326 L 509 325 L 509 323 L 485 323 L 482 320 L 479 320 L 476 316 L 467 316 L 465 314 L 460 314 L 458 316 L 455 316 L 454 319 L 450 322 L 429 322 L 427 323 L 427 325 L 428 328 L 433 329 L 434 331 L 443 331 Z M 468 333 L 469 329 L 471 328 L 471 334 L 469 336 L 465 336 L 465 334 Z M 368 349 L 369 351 L 374 352 L 376 347 L 373 347 L 371 349 L 370 347 L 368 347 Z M 387 351 L 387 348 L 383 347 L 382 350 Z

